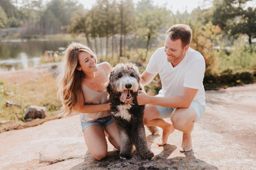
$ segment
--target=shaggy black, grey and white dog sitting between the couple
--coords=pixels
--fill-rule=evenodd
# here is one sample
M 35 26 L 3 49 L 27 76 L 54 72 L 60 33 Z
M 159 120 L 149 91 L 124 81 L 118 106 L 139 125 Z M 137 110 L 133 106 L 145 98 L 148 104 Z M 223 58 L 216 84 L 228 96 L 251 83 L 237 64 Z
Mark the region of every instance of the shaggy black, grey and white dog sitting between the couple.
M 134 144 L 138 154 L 150 160 L 153 153 L 147 146 L 143 114 L 145 106 L 137 102 L 140 89 L 140 75 L 134 64 L 118 64 L 111 71 L 107 93 L 111 104 L 111 114 L 118 127 L 121 143 L 120 158 L 131 158 Z

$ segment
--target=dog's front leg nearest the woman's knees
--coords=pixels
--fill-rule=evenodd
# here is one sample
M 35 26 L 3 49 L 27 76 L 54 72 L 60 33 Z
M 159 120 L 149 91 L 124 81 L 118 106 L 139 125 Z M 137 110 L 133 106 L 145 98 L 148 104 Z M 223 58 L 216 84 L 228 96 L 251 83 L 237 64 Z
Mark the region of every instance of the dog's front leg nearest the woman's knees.
M 119 128 L 120 138 L 121 138 L 121 144 L 120 144 L 120 158 L 121 159 L 129 159 L 131 158 L 131 139 L 129 138 L 129 135 L 127 133 L 127 130 L 122 129 L 122 127 Z

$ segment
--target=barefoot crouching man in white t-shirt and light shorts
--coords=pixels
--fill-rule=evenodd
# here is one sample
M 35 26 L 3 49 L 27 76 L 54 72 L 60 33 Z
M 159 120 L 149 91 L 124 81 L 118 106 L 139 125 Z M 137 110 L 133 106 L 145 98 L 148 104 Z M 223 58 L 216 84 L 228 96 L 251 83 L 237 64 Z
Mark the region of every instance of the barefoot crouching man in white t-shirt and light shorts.
M 163 130 L 162 143 L 176 129 L 183 132 L 182 149 L 192 149 L 193 125 L 202 117 L 206 103 L 204 95 L 205 61 L 203 56 L 189 47 L 192 31 L 188 25 L 173 25 L 167 31 L 164 47 L 153 53 L 147 69 L 140 75 L 142 85 L 147 85 L 158 73 L 162 89 L 156 96 L 140 91 L 138 104 L 146 105 L 144 123 Z M 167 123 L 164 118 L 171 117 Z

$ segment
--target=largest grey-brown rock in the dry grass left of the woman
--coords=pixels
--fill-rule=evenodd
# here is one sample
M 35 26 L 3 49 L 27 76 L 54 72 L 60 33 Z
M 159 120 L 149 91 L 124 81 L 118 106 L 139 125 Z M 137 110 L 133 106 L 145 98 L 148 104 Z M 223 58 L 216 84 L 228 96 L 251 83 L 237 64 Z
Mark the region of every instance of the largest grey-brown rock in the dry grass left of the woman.
M 45 107 L 30 106 L 25 110 L 25 120 L 29 119 L 43 119 L 45 118 Z

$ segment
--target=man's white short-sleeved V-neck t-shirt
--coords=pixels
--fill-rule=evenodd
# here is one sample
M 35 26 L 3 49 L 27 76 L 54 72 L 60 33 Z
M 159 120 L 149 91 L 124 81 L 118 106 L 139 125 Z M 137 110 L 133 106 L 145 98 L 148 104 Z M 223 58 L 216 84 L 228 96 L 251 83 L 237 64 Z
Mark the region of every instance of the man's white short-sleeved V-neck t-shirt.
M 175 67 L 168 62 L 164 47 L 153 53 L 146 71 L 151 74 L 159 73 L 162 89 L 159 95 L 162 97 L 181 96 L 183 87 L 198 89 L 193 101 L 205 106 L 204 71 L 205 61 L 202 54 L 189 47 L 183 60 Z

